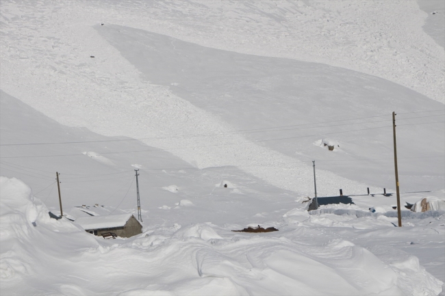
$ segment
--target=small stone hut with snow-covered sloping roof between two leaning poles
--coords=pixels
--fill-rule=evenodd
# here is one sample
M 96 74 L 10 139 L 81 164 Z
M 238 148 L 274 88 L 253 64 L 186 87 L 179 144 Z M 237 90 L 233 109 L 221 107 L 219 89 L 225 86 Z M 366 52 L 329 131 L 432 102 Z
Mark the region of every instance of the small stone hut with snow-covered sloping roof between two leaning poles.
M 142 225 L 131 214 L 81 217 L 75 220 L 86 232 L 101 236 L 114 233 L 118 237 L 133 237 L 142 233 Z

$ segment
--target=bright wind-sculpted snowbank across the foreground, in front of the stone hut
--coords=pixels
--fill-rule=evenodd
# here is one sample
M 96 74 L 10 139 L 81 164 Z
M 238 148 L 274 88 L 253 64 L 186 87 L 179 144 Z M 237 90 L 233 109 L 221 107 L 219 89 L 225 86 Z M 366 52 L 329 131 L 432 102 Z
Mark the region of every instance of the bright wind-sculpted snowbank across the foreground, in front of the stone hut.
M 259 238 L 192 224 L 107 241 L 49 218 L 20 180 L 0 177 L 0 185 L 3 295 L 435 295 L 441 289 L 416 257 L 381 245 L 371 248 L 376 256 L 351 241 L 327 241 L 332 234 L 322 229 L 290 227 Z

